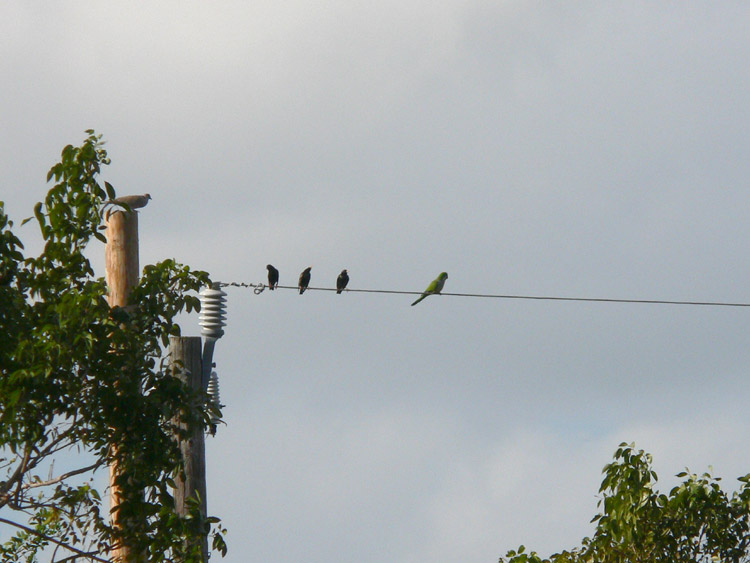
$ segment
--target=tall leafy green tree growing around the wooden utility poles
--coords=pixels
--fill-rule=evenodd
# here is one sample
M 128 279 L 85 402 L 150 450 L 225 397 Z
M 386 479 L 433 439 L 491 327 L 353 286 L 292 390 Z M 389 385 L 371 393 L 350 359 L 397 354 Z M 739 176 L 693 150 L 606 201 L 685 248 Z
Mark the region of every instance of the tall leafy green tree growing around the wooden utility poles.
M 35 561 L 56 545 L 65 558 L 106 561 L 124 544 L 149 561 L 197 561 L 185 553 L 188 539 L 213 525 L 224 553 L 224 530 L 197 505 L 175 512 L 175 433 L 178 423 L 183 435 L 205 428 L 209 413 L 162 358 L 179 335 L 176 315 L 200 307 L 194 292 L 210 280 L 165 260 L 144 269 L 128 307 L 110 308 L 84 250 L 105 240 L 101 208 L 115 190 L 98 180 L 109 163 L 101 136 L 87 134 L 63 149 L 47 176 L 55 184 L 34 208 L 39 256 L 24 256 L 0 202 L 0 516 L 15 511 L 26 521 L 0 518 L 18 530 L 0 559 Z M 57 459 L 78 465 L 53 474 Z M 110 525 L 92 484 L 107 464 L 119 469 L 116 510 L 127 526 Z

